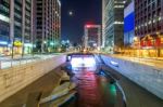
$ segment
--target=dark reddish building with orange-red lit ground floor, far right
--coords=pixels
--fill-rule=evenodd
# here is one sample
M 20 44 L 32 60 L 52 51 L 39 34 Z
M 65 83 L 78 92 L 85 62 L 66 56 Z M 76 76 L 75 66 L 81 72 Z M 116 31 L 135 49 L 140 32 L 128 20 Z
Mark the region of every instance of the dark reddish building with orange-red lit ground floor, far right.
M 146 56 L 163 56 L 163 0 L 135 0 L 135 13 L 137 44 Z

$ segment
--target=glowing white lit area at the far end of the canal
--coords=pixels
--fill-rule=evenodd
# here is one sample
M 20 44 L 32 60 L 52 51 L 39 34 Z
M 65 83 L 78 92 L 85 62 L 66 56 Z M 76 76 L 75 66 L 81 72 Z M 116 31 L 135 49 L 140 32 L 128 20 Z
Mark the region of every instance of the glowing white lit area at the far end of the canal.
M 93 57 L 72 57 L 72 67 L 85 67 L 85 68 L 96 68 L 96 61 Z

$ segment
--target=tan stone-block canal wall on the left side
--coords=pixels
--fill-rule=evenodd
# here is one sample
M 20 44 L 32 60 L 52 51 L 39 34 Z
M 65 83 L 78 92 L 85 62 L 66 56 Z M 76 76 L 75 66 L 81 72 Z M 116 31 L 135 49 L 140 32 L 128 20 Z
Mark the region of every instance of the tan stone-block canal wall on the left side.
M 65 63 L 65 55 L 0 70 L 0 102 Z

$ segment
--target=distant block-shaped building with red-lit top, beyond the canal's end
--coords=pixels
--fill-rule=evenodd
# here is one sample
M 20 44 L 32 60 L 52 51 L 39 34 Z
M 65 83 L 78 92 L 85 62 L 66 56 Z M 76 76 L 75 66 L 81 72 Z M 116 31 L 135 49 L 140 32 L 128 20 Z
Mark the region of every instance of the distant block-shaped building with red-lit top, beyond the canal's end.
M 101 48 L 101 25 L 85 25 L 85 48 L 99 50 Z

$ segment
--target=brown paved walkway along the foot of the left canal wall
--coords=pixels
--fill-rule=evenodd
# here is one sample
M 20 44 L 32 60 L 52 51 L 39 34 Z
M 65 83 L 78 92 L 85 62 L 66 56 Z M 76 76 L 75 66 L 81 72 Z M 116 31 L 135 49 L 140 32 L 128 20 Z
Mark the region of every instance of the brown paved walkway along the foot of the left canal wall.
M 39 96 L 45 97 L 49 95 L 51 91 L 58 85 L 60 79 L 59 71 L 60 68 L 57 68 L 42 78 L 38 79 L 36 82 L 29 84 L 22 91 L 0 103 L 0 107 L 25 107 L 23 106 L 24 104 L 29 102 L 30 105 L 30 101 L 35 103 Z

